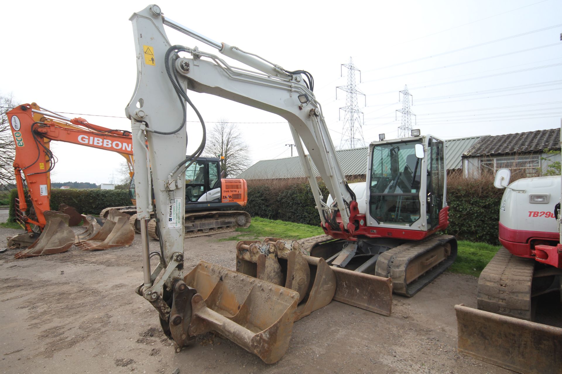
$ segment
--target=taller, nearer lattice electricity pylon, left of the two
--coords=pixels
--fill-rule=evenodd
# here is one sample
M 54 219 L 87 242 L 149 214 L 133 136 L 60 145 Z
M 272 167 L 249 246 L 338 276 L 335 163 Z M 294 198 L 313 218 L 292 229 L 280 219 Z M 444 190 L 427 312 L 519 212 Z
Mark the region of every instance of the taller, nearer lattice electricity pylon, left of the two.
M 357 69 L 353 64 L 350 57 L 350 62 L 346 64 L 341 64 L 339 67 L 340 75 L 343 76 L 343 68 L 347 68 L 347 85 L 336 87 L 336 99 L 338 98 L 338 89 L 345 91 L 346 94 L 346 106 L 339 108 L 341 120 L 341 112 L 345 112 L 343 116 L 343 130 L 342 130 L 342 140 L 339 143 L 340 148 L 355 148 L 365 144 L 363 138 L 362 123 L 365 122 L 365 116 L 363 112 L 359 109 L 357 105 L 357 95 L 363 95 L 364 93 L 357 90 L 357 84 L 355 81 L 355 72 L 359 72 L 359 82 L 361 83 L 361 70 Z M 365 96 L 365 105 L 367 105 L 367 98 Z

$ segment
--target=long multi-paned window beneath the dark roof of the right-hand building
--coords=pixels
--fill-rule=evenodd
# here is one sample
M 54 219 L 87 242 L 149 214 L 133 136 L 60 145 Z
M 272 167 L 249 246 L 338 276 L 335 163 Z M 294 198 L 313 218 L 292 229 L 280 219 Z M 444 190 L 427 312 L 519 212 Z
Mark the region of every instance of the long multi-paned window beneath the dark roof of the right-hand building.
M 480 160 L 481 174 L 495 175 L 499 169 L 509 169 L 520 178 L 541 175 L 541 155 L 516 155 L 484 158 Z

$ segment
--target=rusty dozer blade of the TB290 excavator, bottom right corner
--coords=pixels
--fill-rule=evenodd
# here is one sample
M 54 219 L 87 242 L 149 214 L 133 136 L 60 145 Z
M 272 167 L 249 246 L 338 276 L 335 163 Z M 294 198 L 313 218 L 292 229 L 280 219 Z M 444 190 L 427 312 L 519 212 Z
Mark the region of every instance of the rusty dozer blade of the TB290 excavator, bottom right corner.
M 455 305 L 459 353 L 519 373 L 560 373 L 562 329 Z

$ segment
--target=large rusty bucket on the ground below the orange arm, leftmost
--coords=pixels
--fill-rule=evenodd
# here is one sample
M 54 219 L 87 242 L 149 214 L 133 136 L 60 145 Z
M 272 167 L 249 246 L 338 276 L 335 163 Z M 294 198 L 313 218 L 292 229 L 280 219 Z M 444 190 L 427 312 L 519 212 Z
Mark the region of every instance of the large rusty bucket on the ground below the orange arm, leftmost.
M 74 232 L 68 227 L 69 216 L 56 211 L 45 211 L 46 224 L 39 238 L 25 251 L 17 252 L 14 257 L 26 258 L 53 255 L 69 250 L 74 244 Z

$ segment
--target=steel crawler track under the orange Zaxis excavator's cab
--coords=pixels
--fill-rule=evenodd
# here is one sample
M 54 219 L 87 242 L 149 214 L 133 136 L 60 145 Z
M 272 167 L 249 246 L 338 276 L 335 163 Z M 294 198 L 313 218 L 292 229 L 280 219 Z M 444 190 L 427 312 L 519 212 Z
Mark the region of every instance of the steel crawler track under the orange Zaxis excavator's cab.
M 129 223 L 132 222 L 132 219 L 129 220 Z M 242 210 L 199 211 L 186 213 L 184 222 L 185 237 L 194 238 L 231 232 L 237 227 L 249 227 L 251 218 L 247 212 Z M 155 219 L 148 221 L 148 236 L 158 239 Z

